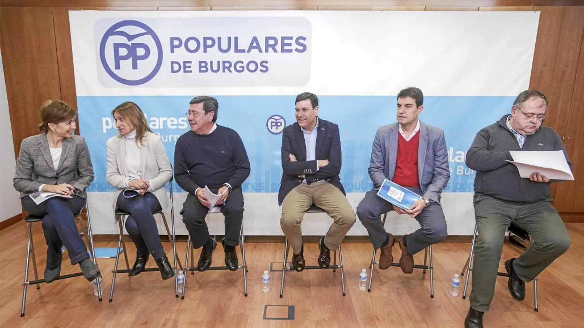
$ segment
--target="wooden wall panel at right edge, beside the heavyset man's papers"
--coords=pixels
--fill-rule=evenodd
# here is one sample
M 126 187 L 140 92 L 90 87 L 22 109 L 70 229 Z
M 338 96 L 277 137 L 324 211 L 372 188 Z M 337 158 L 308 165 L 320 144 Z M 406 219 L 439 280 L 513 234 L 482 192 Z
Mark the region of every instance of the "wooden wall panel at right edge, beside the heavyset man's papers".
M 558 184 L 555 192 L 555 208 L 562 211 L 580 212 L 584 216 L 584 33 L 580 43 L 580 59 L 576 71 L 569 115 L 565 117 L 568 128 L 564 144 L 572 160 L 575 181 Z

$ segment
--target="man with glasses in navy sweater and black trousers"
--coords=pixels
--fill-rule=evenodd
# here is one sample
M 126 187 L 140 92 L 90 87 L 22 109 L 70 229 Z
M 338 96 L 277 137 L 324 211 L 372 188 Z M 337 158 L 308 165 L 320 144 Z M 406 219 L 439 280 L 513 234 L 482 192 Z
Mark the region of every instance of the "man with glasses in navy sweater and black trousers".
M 207 270 L 217 242 L 209 235 L 205 217 L 210 203 L 204 195 L 205 186 L 211 192 L 223 194 L 217 202 L 225 216 L 225 265 L 238 269 L 235 246 L 239 244 L 239 231 L 244 218 L 244 195 L 241 184 L 249 177 L 249 159 L 244 143 L 234 130 L 215 124 L 217 99 L 208 96 L 194 97 L 190 101 L 190 130 L 180 136 L 175 147 L 175 179 L 180 188 L 189 193 L 183 210 L 186 225 L 194 248 L 203 247 L 197 269 Z

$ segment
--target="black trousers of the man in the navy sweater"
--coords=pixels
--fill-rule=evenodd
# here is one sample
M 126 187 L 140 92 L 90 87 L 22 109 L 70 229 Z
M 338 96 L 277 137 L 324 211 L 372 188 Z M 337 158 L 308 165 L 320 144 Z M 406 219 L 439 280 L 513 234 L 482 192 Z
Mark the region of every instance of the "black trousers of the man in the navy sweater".
M 216 189 L 211 189 L 211 191 L 217 193 Z M 209 209 L 199 202 L 197 196 L 192 193 L 186 196 L 180 214 L 183 216 L 183 222 L 189 231 L 194 248 L 203 246 L 210 237 L 205 222 L 208 211 Z M 235 188 L 229 193 L 227 202 L 221 205 L 221 213 L 225 216 L 225 245 L 237 246 L 241 223 L 244 220 L 244 194 L 241 188 Z

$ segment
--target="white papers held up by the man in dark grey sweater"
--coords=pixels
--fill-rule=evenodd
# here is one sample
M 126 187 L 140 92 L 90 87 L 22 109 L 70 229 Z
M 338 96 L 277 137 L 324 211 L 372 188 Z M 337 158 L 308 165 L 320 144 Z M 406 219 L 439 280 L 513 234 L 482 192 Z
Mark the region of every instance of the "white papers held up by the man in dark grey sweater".
M 509 153 L 513 160 L 506 161 L 517 167 L 522 178 L 529 178 L 533 172 L 540 172 L 548 179 L 574 179 L 564 151 L 509 151 Z

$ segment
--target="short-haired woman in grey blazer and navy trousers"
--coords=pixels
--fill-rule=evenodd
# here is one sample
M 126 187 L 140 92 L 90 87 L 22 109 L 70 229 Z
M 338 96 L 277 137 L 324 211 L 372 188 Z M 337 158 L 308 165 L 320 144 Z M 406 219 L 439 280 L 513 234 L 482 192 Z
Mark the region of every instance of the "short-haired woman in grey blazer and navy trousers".
M 100 276 L 89 259 L 89 253 L 75 224 L 74 214 L 85 205 L 85 188 L 93 181 L 93 166 L 82 136 L 73 134 L 77 110 L 61 100 L 47 100 L 40 108 L 40 135 L 22 140 L 16 160 L 14 188 L 20 192 L 22 206 L 29 214 L 43 216 L 43 232 L 47 241 L 47 267 L 44 281 L 51 283 L 61 273 L 65 244 L 71 264 L 79 263 L 89 280 Z M 36 204 L 33 192 L 54 192 L 52 197 Z

